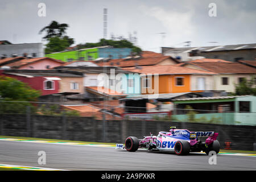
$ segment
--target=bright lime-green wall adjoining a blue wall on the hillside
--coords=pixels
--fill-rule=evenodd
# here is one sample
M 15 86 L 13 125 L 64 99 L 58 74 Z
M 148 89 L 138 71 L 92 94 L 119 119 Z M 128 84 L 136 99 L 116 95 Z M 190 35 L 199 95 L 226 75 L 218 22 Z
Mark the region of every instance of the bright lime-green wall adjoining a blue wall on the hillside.
M 48 55 L 45 55 L 45 56 L 67 62 L 68 59 L 78 60 L 79 57 L 84 57 L 84 60 L 89 60 L 88 55 L 93 57 L 93 59 L 97 59 L 98 58 L 98 48 L 86 49 L 83 51 L 68 51 L 68 52 L 59 52 L 59 53 L 49 53 Z

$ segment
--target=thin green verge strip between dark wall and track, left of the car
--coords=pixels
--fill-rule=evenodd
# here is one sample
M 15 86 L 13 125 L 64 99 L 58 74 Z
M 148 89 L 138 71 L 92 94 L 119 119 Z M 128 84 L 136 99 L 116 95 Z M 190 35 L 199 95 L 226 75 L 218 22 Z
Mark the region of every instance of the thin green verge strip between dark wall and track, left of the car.
M 46 141 L 55 141 L 55 142 L 73 142 L 73 143 L 88 143 L 88 144 L 110 144 L 110 145 L 115 146 L 115 143 L 84 142 L 84 141 L 76 141 L 76 140 L 59 140 L 59 139 L 48 139 L 48 138 L 13 137 L 13 136 L 3 136 L 3 135 L 0 135 L 0 138 L 14 138 L 14 139 L 25 139 L 25 140 L 46 140 Z

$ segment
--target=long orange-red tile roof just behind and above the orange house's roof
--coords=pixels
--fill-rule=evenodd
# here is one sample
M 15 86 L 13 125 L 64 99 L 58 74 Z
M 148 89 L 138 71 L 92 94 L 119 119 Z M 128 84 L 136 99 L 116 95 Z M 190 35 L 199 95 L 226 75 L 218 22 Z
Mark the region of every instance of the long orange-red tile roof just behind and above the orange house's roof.
M 92 63 L 96 63 L 99 66 L 116 66 L 116 67 L 134 67 L 135 65 L 138 66 L 147 66 L 147 65 L 156 65 L 164 60 L 173 60 L 176 63 L 179 63 L 176 59 L 172 58 L 171 56 L 150 56 L 150 57 L 140 57 L 138 59 L 112 59 L 108 62 L 104 63 L 97 63 L 97 61 L 92 61 Z

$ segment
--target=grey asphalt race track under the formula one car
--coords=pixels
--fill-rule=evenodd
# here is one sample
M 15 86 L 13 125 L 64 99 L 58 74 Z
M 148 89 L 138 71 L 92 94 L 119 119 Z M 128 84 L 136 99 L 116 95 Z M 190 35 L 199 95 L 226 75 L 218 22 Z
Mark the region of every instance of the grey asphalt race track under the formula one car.
M 38 152 L 46 152 L 46 164 L 38 164 Z M 167 152 L 115 150 L 108 147 L 65 146 L 0 141 L 0 163 L 68 170 L 255 170 L 253 156 L 177 156 Z

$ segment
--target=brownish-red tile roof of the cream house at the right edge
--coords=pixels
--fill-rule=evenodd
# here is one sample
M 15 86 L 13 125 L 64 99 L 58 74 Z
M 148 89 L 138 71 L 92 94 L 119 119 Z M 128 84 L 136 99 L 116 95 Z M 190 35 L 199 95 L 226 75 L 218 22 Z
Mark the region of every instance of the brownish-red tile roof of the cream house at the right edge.
M 256 73 L 256 69 L 241 63 L 185 63 L 214 73 Z M 183 64 L 184 65 L 184 64 Z

